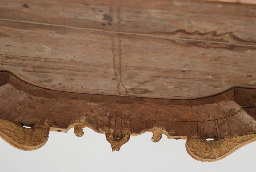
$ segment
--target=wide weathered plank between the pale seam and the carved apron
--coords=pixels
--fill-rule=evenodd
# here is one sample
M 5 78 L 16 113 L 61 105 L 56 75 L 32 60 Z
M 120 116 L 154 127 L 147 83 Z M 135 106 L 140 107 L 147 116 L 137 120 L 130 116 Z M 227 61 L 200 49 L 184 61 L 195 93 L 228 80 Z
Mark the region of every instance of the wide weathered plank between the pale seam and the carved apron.
M 0 70 L 44 88 L 187 99 L 256 86 L 255 45 L 13 21 L 0 25 Z

